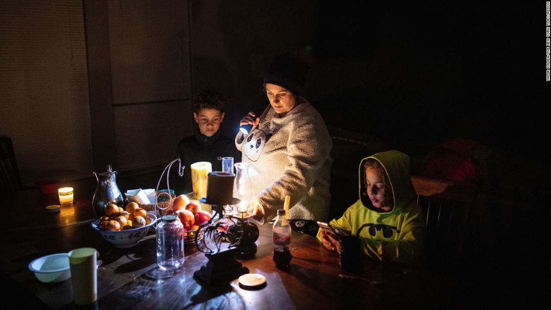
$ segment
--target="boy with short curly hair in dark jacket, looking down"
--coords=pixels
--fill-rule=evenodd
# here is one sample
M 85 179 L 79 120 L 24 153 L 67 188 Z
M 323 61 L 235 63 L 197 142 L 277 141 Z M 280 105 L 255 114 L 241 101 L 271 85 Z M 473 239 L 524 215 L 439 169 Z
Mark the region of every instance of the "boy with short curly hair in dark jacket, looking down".
M 193 98 L 193 118 L 197 123 L 196 134 L 180 140 L 176 157 L 185 166 L 183 177 L 172 174 L 170 184 L 176 195 L 193 191 L 191 184 L 191 164 L 208 161 L 212 171 L 222 171 L 222 157 L 234 157 L 241 161 L 241 152 L 235 148 L 234 140 L 220 134 L 220 124 L 224 120 L 225 101 L 214 90 L 205 90 Z

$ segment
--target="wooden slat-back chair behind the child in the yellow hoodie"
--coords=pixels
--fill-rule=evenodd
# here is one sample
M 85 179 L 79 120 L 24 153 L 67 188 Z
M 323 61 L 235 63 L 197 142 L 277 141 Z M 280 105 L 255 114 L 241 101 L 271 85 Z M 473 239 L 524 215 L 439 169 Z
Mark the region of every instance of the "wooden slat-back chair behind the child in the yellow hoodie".
M 464 242 L 479 188 L 474 183 L 420 176 L 412 176 L 412 182 L 425 215 L 425 268 L 459 271 L 468 264 Z

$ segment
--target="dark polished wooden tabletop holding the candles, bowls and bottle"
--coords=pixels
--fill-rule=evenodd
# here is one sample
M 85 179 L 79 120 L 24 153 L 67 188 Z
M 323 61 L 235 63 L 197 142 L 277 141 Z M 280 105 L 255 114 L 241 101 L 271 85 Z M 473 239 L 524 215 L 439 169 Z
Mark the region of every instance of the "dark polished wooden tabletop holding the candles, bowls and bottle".
M 90 182 L 72 185 L 75 203 L 63 207 L 60 213 L 50 214 L 44 209 L 57 202 L 57 195 L 40 195 L 37 189 L 0 199 L 6 215 L 0 230 L 0 270 L 12 281 L 3 289 L 4 305 L 6 301 L 21 305 L 24 298 L 27 303 L 36 301 L 46 308 L 74 308 L 70 279 L 44 284 L 29 271 L 28 264 L 42 255 L 94 247 L 103 261 L 98 270 L 99 297 L 84 308 L 464 308 L 464 298 L 457 298 L 461 287 L 449 276 L 365 260 L 359 279 L 349 278 L 353 275 L 339 268 L 337 253 L 327 251 L 314 237 L 302 233 L 293 232 L 290 269 L 279 270 L 272 260 L 270 225 L 259 227 L 255 257 L 241 260 L 251 273 L 266 276 L 267 285 L 261 290 L 241 289 L 237 280 L 217 285 L 196 281 L 193 273 L 207 259 L 194 247 L 186 247 L 185 264 L 174 276 L 152 279 L 147 276 L 149 270 L 156 268 L 152 232 L 135 247 L 113 247 L 90 225 L 94 220 L 91 198 L 95 187 Z

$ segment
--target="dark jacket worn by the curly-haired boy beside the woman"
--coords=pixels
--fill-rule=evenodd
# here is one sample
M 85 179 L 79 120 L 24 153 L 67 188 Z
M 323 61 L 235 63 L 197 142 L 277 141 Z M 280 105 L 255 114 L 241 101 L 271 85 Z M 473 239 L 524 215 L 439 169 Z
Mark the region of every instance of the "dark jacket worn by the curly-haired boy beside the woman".
M 193 191 L 191 186 L 191 164 L 198 161 L 208 161 L 212 165 L 212 171 L 222 171 L 222 157 L 234 157 L 234 163 L 241 161 L 241 152 L 235 148 L 233 139 L 220 134 L 220 131 L 212 137 L 201 133 L 183 138 L 178 143 L 176 157 L 185 166 L 183 177 L 177 175 L 177 167 L 172 167 L 170 176 L 170 188 L 176 195 L 187 194 Z

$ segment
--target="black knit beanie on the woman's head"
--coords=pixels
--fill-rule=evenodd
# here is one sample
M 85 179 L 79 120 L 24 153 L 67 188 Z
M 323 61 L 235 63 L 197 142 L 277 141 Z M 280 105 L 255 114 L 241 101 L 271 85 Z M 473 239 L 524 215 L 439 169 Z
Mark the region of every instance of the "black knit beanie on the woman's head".
M 277 55 L 264 74 L 264 86 L 266 83 L 276 84 L 298 96 L 304 90 L 308 69 L 306 62 L 290 53 Z

